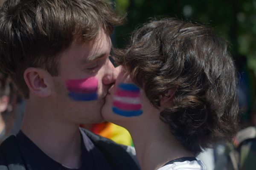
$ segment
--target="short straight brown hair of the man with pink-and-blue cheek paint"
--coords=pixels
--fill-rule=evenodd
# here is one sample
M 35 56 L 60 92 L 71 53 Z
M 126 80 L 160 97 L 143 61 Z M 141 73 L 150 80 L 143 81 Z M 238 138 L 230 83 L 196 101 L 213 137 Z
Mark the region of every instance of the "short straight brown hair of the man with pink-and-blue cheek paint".
M 58 54 L 77 37 L 87 42 L 122 22 L 104 0 L 7 0 L 0 10 L 0 67 L 28 98 L 26 68 L 57 76 Z

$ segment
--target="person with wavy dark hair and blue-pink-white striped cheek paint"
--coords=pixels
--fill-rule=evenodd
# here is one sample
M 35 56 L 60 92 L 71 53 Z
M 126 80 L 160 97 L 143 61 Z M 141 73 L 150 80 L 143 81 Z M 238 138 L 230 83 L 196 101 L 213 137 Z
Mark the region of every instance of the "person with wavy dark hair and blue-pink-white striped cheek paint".
M 115 49 L 119 74 L 103 117 L 132 136 L 143 170 L 204 170 L 195 156 L 238 124 L 236 69 L 211 28 L 167 18 Z

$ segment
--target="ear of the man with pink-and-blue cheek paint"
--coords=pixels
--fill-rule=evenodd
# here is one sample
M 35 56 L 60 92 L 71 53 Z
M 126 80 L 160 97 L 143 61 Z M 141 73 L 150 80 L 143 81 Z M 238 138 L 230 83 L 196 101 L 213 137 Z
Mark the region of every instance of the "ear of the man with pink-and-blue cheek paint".
M 51 94 L 51 75 L 47 71 L 41 68 L 27 68 L 23 76 L 32 94 L 40 97 Z

